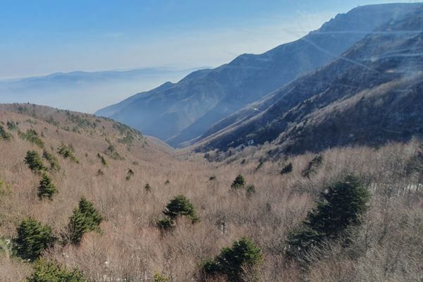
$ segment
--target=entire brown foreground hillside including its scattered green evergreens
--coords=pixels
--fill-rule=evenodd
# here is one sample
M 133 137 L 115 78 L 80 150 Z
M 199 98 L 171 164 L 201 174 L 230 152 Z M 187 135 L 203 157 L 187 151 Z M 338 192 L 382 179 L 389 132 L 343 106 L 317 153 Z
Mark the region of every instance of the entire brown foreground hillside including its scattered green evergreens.
M 219 161 L 30 104 L 0 107 L 0 136 L 0 281 L 422 278 L 417 138 Z

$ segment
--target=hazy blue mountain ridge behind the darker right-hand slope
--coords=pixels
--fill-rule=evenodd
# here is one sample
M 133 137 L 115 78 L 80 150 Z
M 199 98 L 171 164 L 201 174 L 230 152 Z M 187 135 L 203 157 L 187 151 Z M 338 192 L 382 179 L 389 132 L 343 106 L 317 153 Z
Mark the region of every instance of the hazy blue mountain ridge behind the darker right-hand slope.
M 355 8 L 298 41 L 260 55 L 243 54 L 219 68 L 197 71 L 176 84 L 166 83 L 136 94 L 96 114 L 114 118 L 170 145 L 187 145 L 221 118 L 324 66 L 377 26 L 419 5 Z

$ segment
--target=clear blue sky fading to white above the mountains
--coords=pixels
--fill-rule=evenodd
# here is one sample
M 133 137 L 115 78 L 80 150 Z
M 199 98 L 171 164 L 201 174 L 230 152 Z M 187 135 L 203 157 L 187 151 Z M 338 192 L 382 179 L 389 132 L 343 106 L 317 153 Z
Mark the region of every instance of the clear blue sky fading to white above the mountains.
M 298 39 L 337 13 L 379 3 L 386 1 L 0 0 L 0 78 L 218 66 Z

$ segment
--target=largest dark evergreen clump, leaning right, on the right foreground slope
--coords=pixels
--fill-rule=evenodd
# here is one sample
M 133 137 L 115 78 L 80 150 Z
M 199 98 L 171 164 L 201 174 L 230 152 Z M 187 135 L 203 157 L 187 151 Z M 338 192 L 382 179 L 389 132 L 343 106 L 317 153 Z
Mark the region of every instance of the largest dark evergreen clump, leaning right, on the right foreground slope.
M 322 192 L 321 199 L 307 214 L 302 230 L 288 235 L 289 257 L 303 259 L 311 247 L 339 238 L 348 226 L 359 224 L 369 192 L 358 178 L 345 176 Z

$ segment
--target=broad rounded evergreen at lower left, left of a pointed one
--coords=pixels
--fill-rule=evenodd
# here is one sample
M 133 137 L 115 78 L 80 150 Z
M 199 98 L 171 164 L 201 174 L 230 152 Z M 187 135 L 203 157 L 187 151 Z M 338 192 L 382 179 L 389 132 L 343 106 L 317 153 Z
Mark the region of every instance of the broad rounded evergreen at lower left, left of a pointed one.
M 50 226 L 44 226 L 35 219 L 24 219 L 17 228 L 18 235 L 13 238 L 13 251 L 18 257 L 27 260 L 37 259 L 41 253 L 54 243 Z

